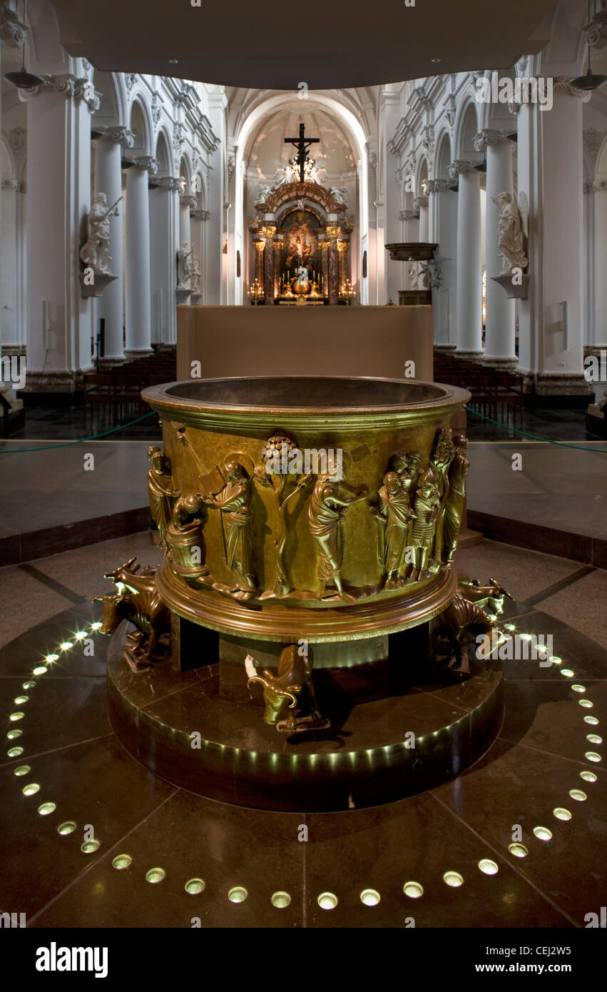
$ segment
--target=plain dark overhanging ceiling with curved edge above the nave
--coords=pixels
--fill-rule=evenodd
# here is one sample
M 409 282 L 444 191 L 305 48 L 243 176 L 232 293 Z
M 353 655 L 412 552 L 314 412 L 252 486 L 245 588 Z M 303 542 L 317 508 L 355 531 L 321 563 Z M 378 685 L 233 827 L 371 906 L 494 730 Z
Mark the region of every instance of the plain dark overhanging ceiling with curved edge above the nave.
M 507 68 L 546 44 L 555 0 L 53 0 L 61 43 L 99 69 L 293 89 Z

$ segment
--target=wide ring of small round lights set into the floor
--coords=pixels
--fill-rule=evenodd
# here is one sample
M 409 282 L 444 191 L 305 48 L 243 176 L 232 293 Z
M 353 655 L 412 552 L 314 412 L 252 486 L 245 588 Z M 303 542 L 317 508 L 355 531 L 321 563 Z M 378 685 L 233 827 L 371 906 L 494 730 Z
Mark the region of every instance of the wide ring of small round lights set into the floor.
M 93 623 L 93 624 L 90 625 L 89 631 L 87 631 L 86 633 L 89 633 L 90 632 L 90 633 L 93 633 L 94 634 L 98 630 L 99 627 L 100 627 L 100 624 L 98 622 Z M 85 634 L 83 632 L 78 632 L 78 633 L 82 635 L 82 638 L 85 636 Z M 79 641 L 81 638 L 78 635 L 76 635 L 75 639 L 77 641 Z M 72 647 L 72 644 L 69 643 L 69 642 L 67 642 L 67 643 L 69 645 L 69 648 L 71 648 Z M 66 650 L 68 650 L 68 648 L 63 648 L 61 650 L 66 651 Z M 60 655 L 57 655 L 57 654 L 49 655 L 49 656 L 47 656 L 46 661 L 47 661 L 48 665 L 53 665 L 55 663 L 55 661 L 58 661 L 59 660 L 60 657 L 61 656 Z M 52 659 L 52 661 L 51 661 L 51 659 Z M 551 658 L 550 661 L 552 661 L 554 664 L 559 665 L 561 660 L 559 658 Z M 36 669 L 34 670 L 34 678 L 35 679 L 42 678 L 44 675 L 47 674 L 47 672 L 48 672 L 47 665 L 38 665 L 36 667 Z M 29 689 L 32 689 L 32 688 L 35 688 L 36 687 L 36 682 L 33 681 L 30 678 L 26 682 L 23 683 L 23 687 L 24 687 L 24 689 L 28 689 L 28 690 Z M 578 685 L 577 688 L 576 688 L 576 691 L 580 691 L 580 690 L 582 692 L 585 692 L 585 686 Z M 580 704 L 580 706 L 582 706 L 582 708 L 584 708 L 584 709 L 590 709 L 590 708 L 593 707 L 593 702 L 590 699 L 587 699 L 585 697 L 582 698 L 582 699 L 578 699 L 577 701 Z M 25 714 L 21 713 L 20 714 L 20 717 L 23 718 L 24 715 Z M 13 719 L 13 717 L 14 717 L 14 713 L 9 714 L 9 721 L 10 722 L 15 722 L 14 719 Z M 584 716 L 583 719 L 584 719 L 584 722 L 587 722 L 587 716 Z M 598 722 L 599 721 L 596 720 L 596 722 L 593 725 L 597 725 Z M 21 728 L 13 727 L 13 728 L 11 728 L 7 732 L 6 737 L 7 737 L 8 741 L 9 741 L 9 743 L 10 743 L 13 740 L 16 740 L 16 739 L 20 738 L 22 735 L 23 735 L 23 730 Z M 9 748 L 9 757 L 18 757 L 18 755 L 12 755 L 10 753 L 11 750 L 13 750 L 13 749 L 16 749 L 16 747 L 10 747 Z M 24 751 L 24 749 L 22 748 L 20 754 L 23 754 L 23 751 Z M 593 762 L 601 761 L 601 756 L 598 755 L 598 754 L 596 754 L 596 753 L 592 753 L 592 757 L 590 757 L 590 754 L 588 752 L 586 752 L 586 754 L 585 754 L 584 757 L 586 758 L 586 760 L 591 760 Z M 15 770 L 15 774 L 16 774 L 16 770 Z M 590 769 L 582 769 L 582 771 L 579 772 L 579 777 L 584 782 L 589 783 L 589 784 L 596 782 L 596 779 L 597 779 L 596 773 L 592 772 Z M 40 786 L 37 783 L 36 784 L 28 784 L 28 785 L 24 786 L 23 789 L 22 789 L 22 792 L 24 793 L 24 795 L 27 795 L 28 789 L 31 789 L 32 790 L 32 792 L 30 793 L 30 795 L 35 795 L 36 793 L 39 792 Z M 555 814 L 555 811 L 556 811 L 557 808 L 558 807 L 554 807 L 554 809 L 552 810 L 552 815 Z M 558 817 L 556 817 L 556 818 L 558 818 Z M 77 826 L 77 824 L 75 823 L 74 820 L 62 820 L 58 824 L 58 826 L 57 826 L 58 836 L 68 836 L 68 835 L 70 835 L 71 833 L 75 832 L 76 826 Z M 538 826 L 535 826 L 533 828 L 533 833 L 534 833 L 534 835 L 538 839 L 542 840 L 543 842 L 548 842 L 551 839 L 551 837 L 552 837 L 552 832 L 546 826 L 539 826 L 539 825 Z M 89 841 L 88 843 L 86 843 L 86 842 L 82 843 L 80 849 L 85 854 L 93 853 L 95 850 L 98 850 L 99 849 L 99 847 L 101 846 L 101 844 L 102 844 L 102 841 L 100 841 L 98 839 L 95 839 L 94 841 Z M 519 853 L 519 854 L 515 854 L 513 852 L 513 848 L 514 847 L 517 847 L 517 846 L 520 846 L 520 847 L 523 848 L 523 851 L 521 853 Z M 87 849 L 85 850 L 85 848 L 87 848 Z M 509 852 L 510 852 L 511 855 L 518 856 L 518 857 L 527 857 L 528 854 L 529 854 L 529 850 L 528 850 L 527 847 L 525 847 L 525 845 L 523 845 L 523 844 L 517 845 L 517 844 L 514 844 L 514 843 L 509 845 Z M 504 857 L 505 857 L 505 853 L 504 853 Z M 121 859 L 121 858 L 128 859 L 128 865 L 127 864 L 120 864 L 120 865 L 119 864 L 116 864 L 116 862 L 119 861 L 119 859 Z M 119 868 L 123 868 L 123 869 L 124 868 L 130 868 L 131 865 L 132 865 L 132 863 L 133 863 L 133 859 L 131 858 L 131 856 L 129 854 L 118 855 L 117 857 L 114 857 L 113 858 L 113 861 L 112 861 L 112 864 L 113 864 L 113 866 L 116 869 L 119 869 Z M 497 874 L 499 872 L 499 866 L 497 865 L 497 863 L 495 861 L 493 861 L 492 859 L 489 859 L 489 858 L 481 858 L 480 861 L 478 862 L 478 867 L 479 867 L 479 870 L 482 871 L 484 874 L 495 875 L 495 874 Z M 144 870 L 144 869 L 142 869 L 142 870 Z M 166 877 L 166 873 L 165 873 L 164 869 L 162 869 L 162 868 L 161 869 L 149 868 L 149 869 L 146 870 L 146 879 L 148 881 L 150 881 L 149 876 L 150 876 L 151 872 L 155 872 L 155 871 L 161 871 L 161 872 L 163 872 L 163 879 Z M 458 872 L 454 872 L 452 870 L 445 870 L 445 872 L 443 872 L 443 875 L 442 875 L 442 880 L 445 883 L 445 885 L 452 885 L 453 884 L 452 881 L 448 881 L 447 880 L 449 876 L 457 876 L 459 879 L 461 879 L 461 882 L 456 882 L 456 885 L 460 885 L 460 884 L 463 884 L 465 882 L 465 879 L 463 878 L 463 876 L 461 876 Z M 157 881 L 160 881 L 160 879 L 158 879 Z M 189 893 L 191 895 L 199 895 L 199 894 L 202 894 L 206 890 L 206 886 L 205 886 L 204 881 L 202 879 L 200 879 L 200 878 L 197 878 L 197 877 L 190 878 L 189 880 L 185 881 L 184 884 L 183 884 L 183 888 L 184 888 L 184 890 L 187 893 Z M 363 889 L 363 890 L 361 890 L 361 893 L 360 893 L 361 902 L 363 902 L 364 905 L 377 905 L 377 902 L 379 902 L 379 899 L 377 900 L 377 902 L 366 903 L 366 904 L 364 903 L 363 896 L 367 892 L 375 892 L 375 890 L 369 890 L 369 889 Z M 408 896 L 410 899 L 414 899 L 414 900 L 421 899 L 424 896 L 424 886 L 420 882 L 409 880 L 409 881 L 406 881 L 403 884 L 403 886 L 402 886 L 402 892 L 403 892 L 403 894 L 405 896 Z M 234 894 L 237 894 L 236 895 L 236 898 L 234 898 Z M 378 895 L 379 898 L 381 898 L 381 896 L 380 896 L 379 893 L 377 893 L 377 895 Z M 235 887 L 232 887 L 229 890 L 229 892 L 227 893 L 227 898 L 232 903 L 244 902 L 247 899 L 247 897 L 248 897 L 248 892 L 244 888 L 244 886 L 235 886 Z M 338 897 L 335 894 L 330 893 L 330 892 L 321 892 L 318 895 L 316 901 L 317 901 L 318 906 L 320 906 L 321 909 L 327 910 L 327 911 L 328 910 L 335 909 L 337 907 L 337 905 L 338 905 Z M 275 906 L 277 909 L 286 909 L 291 904 L 291 896 L 287 892 L 282 892 L 282 891 L 276 892 L 271 897 L 271 902 L 272 902 L 272 905 Z M 413 917 L 412 918 L 408 918 L 408 920 L 406 921 L 406 926 L 415 926 L 415 920 L 414 920 Z

